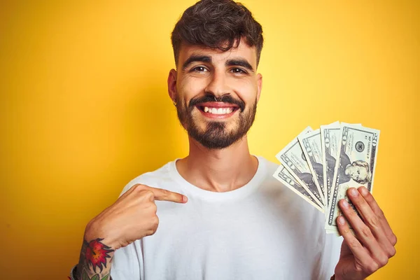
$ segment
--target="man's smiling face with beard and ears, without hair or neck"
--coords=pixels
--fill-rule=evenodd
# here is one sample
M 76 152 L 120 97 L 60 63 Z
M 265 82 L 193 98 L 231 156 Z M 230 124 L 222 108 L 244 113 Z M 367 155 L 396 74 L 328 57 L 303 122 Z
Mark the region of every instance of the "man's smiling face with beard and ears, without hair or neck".
M 169 73 L 168 87 L 191 137 L 212 149 L 244 137 L 260 97 L 262 77 L 256 68 L 256 50 L 244 40 L 227 52 L 182 45 L 178 70 Z

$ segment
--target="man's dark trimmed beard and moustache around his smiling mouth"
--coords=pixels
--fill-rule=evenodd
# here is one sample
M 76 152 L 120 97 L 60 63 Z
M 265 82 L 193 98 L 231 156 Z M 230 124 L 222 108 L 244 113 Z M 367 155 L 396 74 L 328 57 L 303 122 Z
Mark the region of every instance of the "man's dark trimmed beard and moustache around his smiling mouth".
M 228 131 L 224 121 L 207 121 L 206 128 L 201 130 L 197 124 L 197 120 L 193 117 L 193 110 L 197 110 L 195 107 L 196 104 L 212 101 L 214 101 L 214 96 L 206 95 L 204 97 L 191 99 L 190 104 L 186 106 L 181 100 L 177 99 L 176 112 L 181 125 L 186 129 L 190 137 L 193 137 L 193 139 L 208 149 L 220 150 L 235 144 L 239 139 L 246 135 L 255 120 L 257 99 L 255 98 L 255 102 L 246 110 L 243 101 L 234 99 L 230 95 L 223 96 L 223 102 L 239 106 L 239 109 L 237 110 L 239 111 L 239 116 L 235 120 L 234 127 Z M 230 121 L 232 122 L 232 120 Z

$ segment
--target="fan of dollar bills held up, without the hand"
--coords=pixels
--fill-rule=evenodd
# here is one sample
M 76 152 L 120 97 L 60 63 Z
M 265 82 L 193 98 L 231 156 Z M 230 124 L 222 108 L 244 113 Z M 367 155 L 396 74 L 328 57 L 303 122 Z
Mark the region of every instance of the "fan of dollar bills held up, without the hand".
M 307 127 L 276 155 L 281 165 L 273 176 L 325 213 L 327 233 L 338 233 L 337 203 L 349 201 L 346 190 L 365 186 L 372 193 L 378 143 L 379 130 L 362 125 Z

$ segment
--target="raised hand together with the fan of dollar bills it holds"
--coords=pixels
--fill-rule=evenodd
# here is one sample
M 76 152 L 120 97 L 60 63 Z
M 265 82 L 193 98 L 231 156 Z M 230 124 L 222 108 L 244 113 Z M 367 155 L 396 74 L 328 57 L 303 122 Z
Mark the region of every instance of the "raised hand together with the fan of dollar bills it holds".
M 304 129 L 276 158 L 273 174 L 325 213 L 327 233 L 344 237 L 335 279 L 365 279 L 395 255 L 396 237 L 375 202 L 379 130 L 332 123 Z

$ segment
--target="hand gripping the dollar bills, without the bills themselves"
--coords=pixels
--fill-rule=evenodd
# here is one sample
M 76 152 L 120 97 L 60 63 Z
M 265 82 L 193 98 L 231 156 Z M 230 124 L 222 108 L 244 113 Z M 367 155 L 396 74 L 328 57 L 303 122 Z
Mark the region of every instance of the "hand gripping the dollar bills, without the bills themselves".
M 346 200 L 339 201 L 346 219 L 337 217 L 338 230 L 344 241 L 335 267 L 335 279 L 360 280 L 386 265 L 389 258 L 395 255 L 397 237 L 386 221 L 384 212 L 365 187 L 349 188 L 347 194 L 361 218 Z

